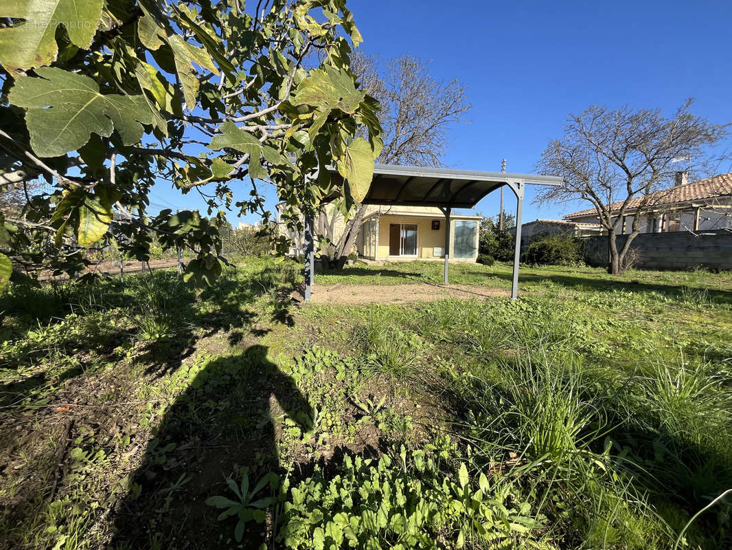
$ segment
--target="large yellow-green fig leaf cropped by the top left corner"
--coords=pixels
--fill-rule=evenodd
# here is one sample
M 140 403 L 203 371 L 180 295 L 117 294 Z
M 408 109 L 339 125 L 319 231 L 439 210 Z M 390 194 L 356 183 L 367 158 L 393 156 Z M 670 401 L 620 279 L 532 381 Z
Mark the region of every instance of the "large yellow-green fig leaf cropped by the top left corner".
M 73 44 L 89 48 L 102 4 L 103 0 L 3 0 L 0 18 L 26 21 L 0 29 L 0 64 L 11 72 L 51 65 L 59 54 L 58 26 L 64 27 Z

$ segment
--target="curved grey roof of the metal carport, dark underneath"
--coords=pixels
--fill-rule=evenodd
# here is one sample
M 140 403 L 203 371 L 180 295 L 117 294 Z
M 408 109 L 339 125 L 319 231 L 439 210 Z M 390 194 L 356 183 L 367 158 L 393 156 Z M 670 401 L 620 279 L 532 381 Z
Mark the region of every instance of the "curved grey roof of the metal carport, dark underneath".
M 337 172 L 333 176 L 340 178 Z M 376 164 L 371 186 L 362 202 L 474 208 L 491 191 L 511 183 L 559 186 L 561 177 Z

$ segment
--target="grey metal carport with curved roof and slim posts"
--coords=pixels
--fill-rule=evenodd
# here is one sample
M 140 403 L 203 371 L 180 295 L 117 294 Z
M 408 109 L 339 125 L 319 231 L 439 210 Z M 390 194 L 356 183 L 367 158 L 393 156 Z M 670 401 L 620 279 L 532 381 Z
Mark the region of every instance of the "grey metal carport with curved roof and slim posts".
M 332 182 L 343 185 L 343 178 L 332 170 Z M 527 185 L 559 186 L 561 177 L 505 172 L 476 172 L 419 166 L 377 164 L 373 180 L 363 200 L 365 205 L 436 206 L 445 216 L 445 272 L 447 284 L 450 242 L 450 213 L 453 208 L 475 208 L 480 200 L 501 186 L 508 186 L 516 196 L 516 244 L 513 258 L 511 298 L 518 292 L 518 260 L 521 246 L 521 215 L 523 192 Z M 305 220 L 305 300 L 315 278 L 315 247 L 313 220 Z

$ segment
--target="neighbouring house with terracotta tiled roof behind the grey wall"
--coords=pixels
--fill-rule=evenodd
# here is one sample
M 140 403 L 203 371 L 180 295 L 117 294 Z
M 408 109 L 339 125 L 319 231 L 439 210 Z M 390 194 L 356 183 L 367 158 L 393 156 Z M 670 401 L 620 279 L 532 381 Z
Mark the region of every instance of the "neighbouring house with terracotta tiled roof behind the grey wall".
M 684 174 L 679 173 L 676 183 L 670 189 L 649 194 L 639 214 L 641 233 L 732 229 L 732 172 L 692 183 L 685 183 Z M 617 234 L 632 232 L 633 218 L 642 199 L 630 199 Z M 616 210 L 621 205 L 622 202 L 615 202 L 612 208 Z M 583 224 L 600 221 L 594 208 L 567 214 L 564 219 Z

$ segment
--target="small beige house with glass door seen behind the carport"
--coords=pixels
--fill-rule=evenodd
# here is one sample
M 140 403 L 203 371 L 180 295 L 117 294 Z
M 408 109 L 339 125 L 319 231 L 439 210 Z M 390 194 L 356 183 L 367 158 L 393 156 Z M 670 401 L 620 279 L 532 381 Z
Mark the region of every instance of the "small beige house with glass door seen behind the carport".
M 367 260 L 440 260 L 445 252 L 445 216 L 429 206 L 372 205 L 356 238 L 359 257 Z M 478 257 L 477 214 L 450 215 L 449 259 L 474 262 Z

